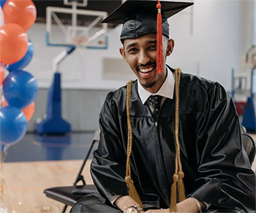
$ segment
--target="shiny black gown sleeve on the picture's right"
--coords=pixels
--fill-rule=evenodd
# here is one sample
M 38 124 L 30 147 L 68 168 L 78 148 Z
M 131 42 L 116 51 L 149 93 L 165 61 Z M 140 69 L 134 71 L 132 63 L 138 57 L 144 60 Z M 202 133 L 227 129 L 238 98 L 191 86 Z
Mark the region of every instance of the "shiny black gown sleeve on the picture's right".
M 197 172 L 190 196 L 213 206 L 255 212 L 255 174 L 241 143 L 238 115 L 224 88 L 214 83 L 197 112 Z

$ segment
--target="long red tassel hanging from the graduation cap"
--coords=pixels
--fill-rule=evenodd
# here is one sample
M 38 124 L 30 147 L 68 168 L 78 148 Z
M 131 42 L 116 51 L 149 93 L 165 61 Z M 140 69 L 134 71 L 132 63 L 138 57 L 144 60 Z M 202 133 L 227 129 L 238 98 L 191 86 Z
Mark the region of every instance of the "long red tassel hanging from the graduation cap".
M 162 58 L 162 13 L 161 13 L 161 3 L 157 2 L 157 73 L 162 73 L 163 68 L 163 58 Z

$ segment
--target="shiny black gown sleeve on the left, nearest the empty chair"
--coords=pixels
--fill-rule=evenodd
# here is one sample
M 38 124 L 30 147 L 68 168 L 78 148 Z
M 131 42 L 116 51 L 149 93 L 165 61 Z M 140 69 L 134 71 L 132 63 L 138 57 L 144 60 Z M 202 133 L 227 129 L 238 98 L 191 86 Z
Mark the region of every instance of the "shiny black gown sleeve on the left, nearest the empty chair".
M 99 147 L 91 162 L 91 177 L 99 194 L 109 199 L 114 195 L 128 195 L 124 182 L 126 152 L 122 146 L 118 108 L 113 93 L 108 93 L 99 115 L 101 130 Z M 118 163 L 117 163 L 118 162 Z

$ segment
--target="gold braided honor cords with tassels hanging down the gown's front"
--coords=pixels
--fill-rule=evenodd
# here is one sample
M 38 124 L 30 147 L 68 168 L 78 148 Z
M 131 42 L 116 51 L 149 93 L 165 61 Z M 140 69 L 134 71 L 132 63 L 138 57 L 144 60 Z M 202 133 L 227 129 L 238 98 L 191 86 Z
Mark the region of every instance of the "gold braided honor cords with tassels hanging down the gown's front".
M 181 69 L 175 70 L 175 92 L 176 92 L 176 106 L 175 106 L 175 143 L 176 143 L 176 160 L 175 160 L 175 173 L 173 174 L 173 185 L 171 187 L 171 195 L 170 195 L 170 212 L 177 212 L 176 206 L 176 185 L 178 183 L 178 200 L 184 201 L 186 199 L 185 190 L 184 190 L 184 173 L 182 171 L 181 166 L 181 156 L 180 156 L 180 147 L 178 142 L 178 109 L 179 109 L 179 84 L 181 80 Z M 140 196 L 135 188 L 135 185 L 132 181 L 131 176 L 131 166 L 130 166 L 130 156 L 132 154 L 132 125 L 131 118 L 129 116 L 129 107 L 130 107 L 130 98 L 131 98 L 131 89 L 132 89 L 132 81 L 127 82 L 127 128 L 128 128 L 128 136 L 127 136 L 127 168 L 126 168 L 126 177 L 125 182 L 127 183 L 127 187 L 129 188 L 129 196 L 135 200 L 140 206 L 143 207 L 142 201 L 140 200 Z

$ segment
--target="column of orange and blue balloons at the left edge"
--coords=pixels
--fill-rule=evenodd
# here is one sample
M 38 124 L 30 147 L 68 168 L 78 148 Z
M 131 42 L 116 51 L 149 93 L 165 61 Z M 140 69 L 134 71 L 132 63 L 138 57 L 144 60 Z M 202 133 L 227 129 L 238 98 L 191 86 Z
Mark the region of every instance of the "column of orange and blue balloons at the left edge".
M 27 122 L 34 113 L 37 81 L 23 69 L 30 63 L 34 52 L 26 31 L 34 24 L 37 9 L 31 0 L 0 1 L 1 152 L 22 139 Z M 5 78 L 4 68 L 10 71 Z

